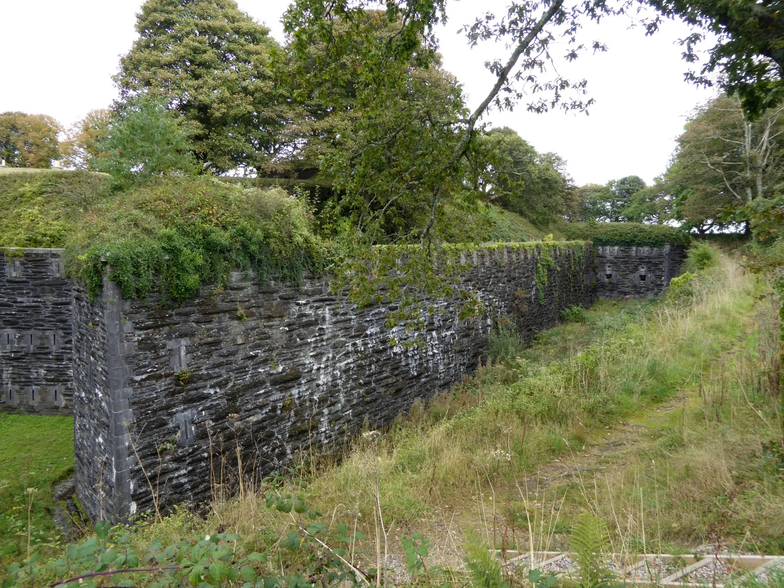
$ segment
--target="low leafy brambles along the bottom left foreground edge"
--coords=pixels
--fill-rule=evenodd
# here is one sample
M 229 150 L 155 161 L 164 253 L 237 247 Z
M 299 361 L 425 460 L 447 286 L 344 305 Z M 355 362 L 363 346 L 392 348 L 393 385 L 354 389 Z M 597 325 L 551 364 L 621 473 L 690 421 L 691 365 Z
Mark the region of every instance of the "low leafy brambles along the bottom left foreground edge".
M 6 564 L 2 588 L 47 585 L 66 588 L 197 585 L 212 588 L 305 588 L 313 586 L 310 580 L 313 577 L 323 579 L 321 586 L 325 588 L 370 585 L 368 577 L 342 557 L 358 540 L 365 539 L 365 535 L 356 530 L 352 532 L 345 523 L 321 522 L 319 519 L 324 515 L 311 509 L 303 500 L 303 484 L 293 487 L 292 492 L 285 492 L 278 482 L 279 477 L 273 479 L 275 486 L 267 493 L 263 503 L 270 512 L 296 514 L 298 524 L 293 529 L 287 525 L 282 531 L 274 527 L 261 528 L 259 535 L 253 538 L 260 551 L 243 549 L 245 538 L 238 533 L 220 531 L 211 534 L 199 532 L 180 541 L 157 537 L 143 552 L 137 550 L 134 537 L 127 528 L 122 525 L 112 527 L 108 521 L 97 521 L 94 536 L 61 549 L 60 557 L 54 561 L 45 560 L 42 552 L 36 551 L 28 554 L 23 561 Z M 267 480 L 270 478 L 265 482 Z M 272 540 L 267 543 L 264 541 L 267 538 Z M 409 563 L 408 572 L 426 576 L 428 572 L 434 572 L 433 567 L 425 568 L 421 563 L 427 556 L 430 542 L 422 535 L 415 534 L 414 538 L 415 541 L 408 541 L 415 550 L 413 565 Z M 404 536 L 401 543 L 405 545 L 406 541 Z M 324 557 L 325 550 L 328 557 Z M 290 568 L 288 572 L 284 572 L 284 560 L 285 568 Z M 275 572 L 270 577 L 268 561 L 280 561 L 279 577 Z M 411 557 L 408 561 L 411 562 Z M 292 568 L 292 563 L 298 564 L 296 568 Z M 504 587 L 493 585 L 488 588 Z

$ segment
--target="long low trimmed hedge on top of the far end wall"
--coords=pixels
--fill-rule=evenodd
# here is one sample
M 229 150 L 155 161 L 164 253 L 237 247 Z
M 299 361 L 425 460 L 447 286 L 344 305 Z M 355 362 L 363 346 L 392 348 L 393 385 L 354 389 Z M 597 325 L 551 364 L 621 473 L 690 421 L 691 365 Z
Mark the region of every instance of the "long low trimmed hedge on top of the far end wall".
M 561 233 L 568 239 L 593 241 L 593 245 L 688 245 L 688 233 L 677 227 L 643 223 L 567 223 Z

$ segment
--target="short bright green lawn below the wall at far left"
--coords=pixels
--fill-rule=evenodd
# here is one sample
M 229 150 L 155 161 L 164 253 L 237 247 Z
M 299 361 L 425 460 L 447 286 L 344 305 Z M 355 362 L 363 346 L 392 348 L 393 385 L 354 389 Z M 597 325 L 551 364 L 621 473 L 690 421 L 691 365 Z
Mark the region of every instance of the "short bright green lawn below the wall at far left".
M 59 541 L 52 488 L 73 470 L 74 419 L 0 415 L 0 561 L 27 554 L 30 498 L 31 545 Z

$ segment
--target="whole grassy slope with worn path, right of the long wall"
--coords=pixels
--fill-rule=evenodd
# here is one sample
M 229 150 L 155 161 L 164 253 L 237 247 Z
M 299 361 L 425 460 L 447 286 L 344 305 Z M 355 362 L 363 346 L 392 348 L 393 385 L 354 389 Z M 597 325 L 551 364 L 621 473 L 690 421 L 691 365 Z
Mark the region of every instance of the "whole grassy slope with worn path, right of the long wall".
M 583 509 L 608 524 L 616 551 L 784 553 L 773 299 L 726 258 L 681 292 L 597 303 L 361 437 L 339 465 L 303 461 L 307 503 L 371 538 L 380 513 L 390 551 L 423 532 L 445 563 L 471 533 L 508 549 L 527 549 L 531 535 L 536 548 L 563 548 Z M 180 511 L 136 539 L 232 529 L 260 549 L 292 521 L 265 508 L 265 492 L 245 485 L 206 521 Z

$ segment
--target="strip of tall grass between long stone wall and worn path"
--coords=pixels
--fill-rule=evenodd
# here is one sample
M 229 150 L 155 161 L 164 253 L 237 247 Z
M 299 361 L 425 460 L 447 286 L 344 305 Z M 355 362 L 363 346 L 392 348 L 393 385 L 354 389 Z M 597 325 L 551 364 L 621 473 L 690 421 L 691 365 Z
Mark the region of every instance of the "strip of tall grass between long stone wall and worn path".
M 554 454 L 583 445 L 587 430 L 693 386 L 742 336 L 757 285 L 725 260 L 695 288 L 688 303 L 637 305 L 629 314 L 594 311 L 593 340 L 562 349 L 552 361 L 534 351 L 508 366 L 480 368 L 377 441 L 359 443 L 340 466 L 314 472 L 313 499 L 334 503 L 340 496 L 369 514 L 367 473 L 378 472 L 385 510 L 416 520 L 434 506 L 470 499 L 488 483 L 508 486 Z

